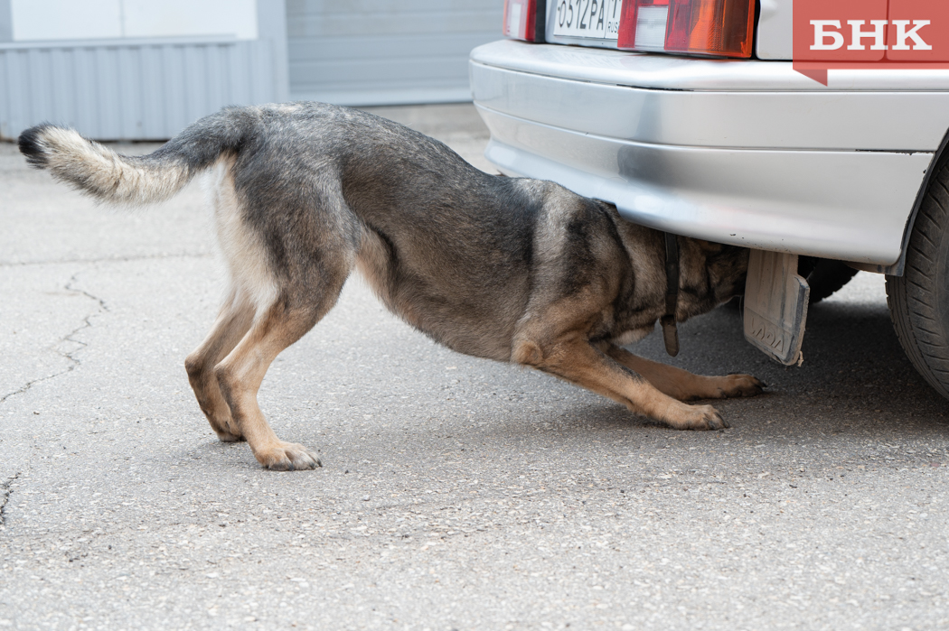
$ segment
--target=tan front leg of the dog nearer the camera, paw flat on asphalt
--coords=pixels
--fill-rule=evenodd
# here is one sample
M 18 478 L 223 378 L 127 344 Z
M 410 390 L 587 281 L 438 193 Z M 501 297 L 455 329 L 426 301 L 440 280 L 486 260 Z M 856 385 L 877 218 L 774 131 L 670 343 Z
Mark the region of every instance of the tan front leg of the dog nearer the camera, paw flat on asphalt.
M 552 343 L 521 341 L 514 359 L 617 401 L 676 429 L 721 429 L 728 424 L 712 406 L 688 406 L 660 391 L 641 374 L 595 349 L 580 334 Z

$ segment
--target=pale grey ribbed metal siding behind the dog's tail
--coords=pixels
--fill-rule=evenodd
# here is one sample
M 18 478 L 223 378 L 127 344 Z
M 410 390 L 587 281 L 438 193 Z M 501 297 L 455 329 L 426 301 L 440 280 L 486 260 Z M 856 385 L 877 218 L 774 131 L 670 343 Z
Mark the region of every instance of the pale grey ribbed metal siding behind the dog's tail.
M 271 39 L 0 45 L 0 137 L 42 121 L 97 139 L 170 138 L 225 105 L 287 98 Z

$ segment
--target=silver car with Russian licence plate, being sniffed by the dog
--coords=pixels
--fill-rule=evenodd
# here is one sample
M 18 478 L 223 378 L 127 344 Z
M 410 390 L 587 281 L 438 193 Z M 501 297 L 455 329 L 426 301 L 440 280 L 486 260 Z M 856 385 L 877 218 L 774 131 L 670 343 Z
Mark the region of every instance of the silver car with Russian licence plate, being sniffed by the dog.
M 753 248 L 746 337 L 784 363 L 807 313 L 795 271 L 811 300 L 885 274 L 904 350 L 949 398 L 949 70 L 826 86 L 793 70 L 791 27 L 791 0 L 508 0 L 513 39 L 471 53 L 486 156 Z

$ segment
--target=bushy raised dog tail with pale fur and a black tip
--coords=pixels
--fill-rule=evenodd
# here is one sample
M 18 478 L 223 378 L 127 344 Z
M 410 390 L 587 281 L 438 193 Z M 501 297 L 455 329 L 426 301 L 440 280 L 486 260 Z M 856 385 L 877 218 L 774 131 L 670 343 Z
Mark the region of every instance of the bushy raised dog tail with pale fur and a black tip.
M 20 135 L 30 166 L 113 204 L 140 206 L 172 197 L 223 153 L 237 153 L 250 110 L 229 108 L 195 122 L 155 153 L 121 155 L 78 132 L 44 123 Z

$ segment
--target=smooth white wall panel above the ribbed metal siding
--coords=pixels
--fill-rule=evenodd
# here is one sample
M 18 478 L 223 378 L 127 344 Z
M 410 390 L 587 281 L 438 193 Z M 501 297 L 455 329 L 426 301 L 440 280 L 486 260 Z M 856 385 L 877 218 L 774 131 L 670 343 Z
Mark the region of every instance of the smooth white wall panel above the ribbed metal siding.
M 189 35 L 257 39 L 256 0 L 10 0 L 13 41 Z

